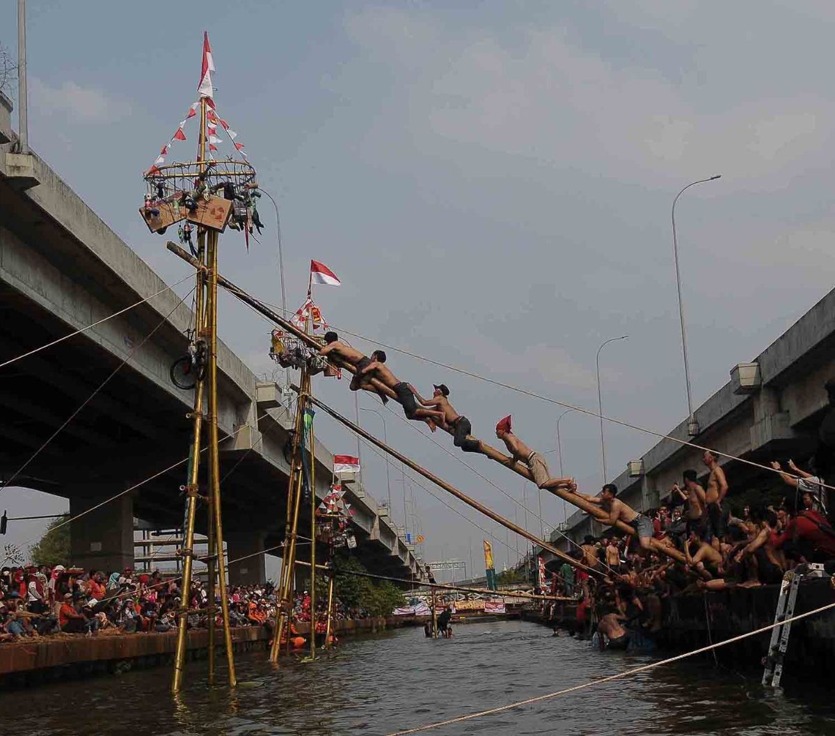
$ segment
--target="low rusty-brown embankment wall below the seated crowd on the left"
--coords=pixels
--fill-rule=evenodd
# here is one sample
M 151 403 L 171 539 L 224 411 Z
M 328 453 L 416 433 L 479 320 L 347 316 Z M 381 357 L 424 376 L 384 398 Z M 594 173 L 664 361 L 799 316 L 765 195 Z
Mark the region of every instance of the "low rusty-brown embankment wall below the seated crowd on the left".
M 395 617 L 351 619 L 334 624 L 337 634 L 343 637 L 377 633 L 402 626 L 402 622 Z M 310 625 L 299 623 L 296 629 L 306 635 Z M 235 652 L 265 649 L 269 636 L 267 629 L 261 626 L 232 629 Z M 222 636 L 218 636 L 217 641 L 222 647 Z M 134 668 L 170 665 L 174 661 L 176 645 L 176 632 L 103 632 L 94 637 L 56 634 L 52 637 L 3 643 L 0 644 L 0 688 L 25 687 L 97 674 L 123 673 Z M 208 645 L 208 631 L 190 631 L 187 644 L 190 660 L 205 658 L 209 651 Z

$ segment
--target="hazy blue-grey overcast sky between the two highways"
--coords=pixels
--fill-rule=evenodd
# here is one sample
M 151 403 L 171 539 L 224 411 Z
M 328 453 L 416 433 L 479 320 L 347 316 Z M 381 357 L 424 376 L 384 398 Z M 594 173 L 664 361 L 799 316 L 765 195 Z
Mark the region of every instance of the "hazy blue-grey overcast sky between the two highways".
M 309 260 L 324 262 L 342 279 L 316 291 L 333 325 L 591 409 L 598 346 L 629 335 L 601 355 L 605 413 L 668 431 L 686 415 L 670 224 L 678 189 L 722 174 L 676 209 L 697 404 L 831 288 L 832 3 L 205 0 L 202 20 L 190 3 L 28 8 L 33 148 L 170 282 L 186 270 L 137 215 L 141 172 L 196 99 L 205 27 L 220 114 L 281 206 L 288 302 L 301 303 Z M 0 38 L 9 48 L 13 28 Z M 193 136 L 176 145 L 185 158 Z M 240 236 L 222 239 L 221 270 L 280 303 L 266 199 L 261 217 L 267 229 L 249 255 Z M 230 300 L 220 324 L 255 371 L 271 371 L 269 325 Z M 519 436 L 554 449 L 559 407 L 389 355 L 426 393 L 446 382 L 478 436 L 491 439 L 513 413 Z M 353 411 L 345 381 L 316 384 Z M 383 413 L 394 446 L 514 517 L 506 497 Z M 379 431 L 371 413 L 362 421 Z M 326 418 L 317 425 L 333 451 L 356 448 Z M 566 416 L 561 433 L 566 474 L 596 492 L 595 419 Z M 650 444 L 607 426 L 609 476 Z M 521 497 L 517 476 L 464 459 Z M 382 462 L 370 451 L 363 461 L 386 497 Z M 401 493 L 392 486 L 398 522 Z M 469 560 L 472 542 L 481 567 L 483 533 L 423 489 L 414 495 L 425 556 Z M 10 514 L 65 507 L 4 496 Z M 543 510 L 549 526 L 562 519 L 553 498 Z M 533 517 L 528 525 L 539 530 Z M 500 544 L 496 557 L 503 565 Z

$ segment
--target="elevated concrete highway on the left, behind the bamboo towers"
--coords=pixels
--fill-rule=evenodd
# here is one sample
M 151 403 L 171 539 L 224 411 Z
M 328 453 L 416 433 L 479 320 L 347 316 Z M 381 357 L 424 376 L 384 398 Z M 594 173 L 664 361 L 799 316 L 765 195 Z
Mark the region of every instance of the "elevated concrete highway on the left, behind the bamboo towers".
M 171 383 L 169 368 L 185 352 L 193 315 L 37 155 L 8 155 L 16 139 L 10 112 L 0 93 L 0 363 L 163 291 L 0 369 L 4 478 L 84 401 L 15 485 L 68 498 L 74 515 L 159 473 L 71 525 L 74 563 L 119 569 L 133 562 L 134 517 L 160 528 L 180 525 L 185 465 L 165 469 L 188 451 L 192 392 Z M 228 553 L 235 558 L 281 542 L 291 416 L 278 387 L 259 383 L 222 342 L 218 363 L 220 433 L 230 438 L 221 445 L 221 476 L 234 469 L 224 482 L 223 519 Z M 316 460 L 321 497 L 332 467 L 321 443 Z M 367 567 L 402 577 L 414 571 L 412 551 L 385 509 L 362 486 L 352 486 L 348 496 L 357 510 L 358 555 Z M 198 530 L 205 531 L 204 516 Z M 263 555 L 233 565 L 230 576 L 238 582 L 263 579 Z

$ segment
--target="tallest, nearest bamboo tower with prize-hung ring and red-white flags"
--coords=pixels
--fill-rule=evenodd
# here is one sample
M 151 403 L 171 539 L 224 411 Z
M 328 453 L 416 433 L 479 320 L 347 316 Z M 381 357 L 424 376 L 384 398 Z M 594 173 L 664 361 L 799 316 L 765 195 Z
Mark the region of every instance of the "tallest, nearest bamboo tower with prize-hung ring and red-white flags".
M 191 103 L 185 118 L 175 129 L 175 134 L 159 150 L 154 163 L 144 171 L 144 198 L 139 215 L 149 232 L 162 235 L 176 229 L 180 242 L 187 244 L 194 254 L 193 265 L 197 270 L 194 330 L 187 330 L 188 351 L 170 367 L 170 379 L 182 391 L 195 391 L 193 410 L 190 412 L 191 447 L 188 474 L 180 491 L 185 495 L 183 517 L 184 543 L 180 550 L 183 557 L 183 583 L 180 607 L 177 612 L 177 646 L 171 689 L 177 693 L 183 685 L 186 649 L 188 645 L 188 617 L 196 612 L 191 605 L 191 576 L 194 574 L 194 537 L 197 507 L 205 504 L 207 536 L 210 541 L 208 556 L 209 600 L 200 612 L 208 613 L 209 626 L 209 682 L 215 679 L 215 631 L 217 612 L 215 582 L 223 620 L 223 636 L 226 649 L 227 673 L 231 687 L 235 687 L 235 661 L 232 651 L 229 602 L 226 596 L 226 567 L 223 554 L 223 524 L 220 504 L 220 451 L 218 450 L 218 368 L 217 368 L 217 297 L 218 250 L 220 233 L 227 225 L 244 234 L 249 241 L 255 199 L 252 194 L 257 184 L 256 170 L 246 160 L 243 144 L 230 134 L 234 151 L 230 156 L 220 153 L 218 125 L 227 129 L 220 118 L 215 102 L 215 85 L 212 73 L 214 58 L 208 33 L 203 34 L 203 59 L 197 101 Z M 185 128 L 189 121 L 199 120 L 197 151 L 195 158 L 176 158 L 177 141 L 185 141 Z M 228 132 L 228 131 L 227 131 Z M 217 152 L 217 155 L 215 153 Z M 182 156 L 182 151 L 178 154 Z M 236 158 L 235 158 L 236 157 Z M 220 196 L 220 194 L 222 196 Z M 196 235 L 196 247 L 194 236 Z M 200 493 L 200 449 L 205 431 L 207 446 L 208 482 Z M 215 579 L 216 576 L 216 579 Z

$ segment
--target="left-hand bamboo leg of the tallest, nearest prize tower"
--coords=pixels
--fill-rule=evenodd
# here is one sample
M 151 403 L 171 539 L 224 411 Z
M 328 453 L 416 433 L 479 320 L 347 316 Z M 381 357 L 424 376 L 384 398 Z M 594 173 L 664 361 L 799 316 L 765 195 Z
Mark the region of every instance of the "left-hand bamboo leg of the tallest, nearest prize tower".
M 199 253 L 202 257 L 205 251 L 205 236 L 200 234 L 198 239 Z M 195 330 L 198 335 L 204 329 L 204 286 L 205 276 L 202 270 L 197 271 L 195 287 Z M 180 610 L 177 612 L 177 648 L 174 659 L 174 675 L 171 678 L 171 691 L 177 693 L 183 684 L 185 670 L 186 640 L 188 636 L 188 609 L 191 597 L 191 573 L 194 563 L 195 548 L 195 514 L 197 511 L 197 482 L 200 471 L 200 436 L 203 428 L 203 401 L 205 396 L 205 381 L 199 380 L 195 384 L 194 410 L 191 412 L 191 450 L 189 453 L 189 467 L 185 481 L 185 524 L 183 532 L 182 556 L 183 578 L 180 589 Z

